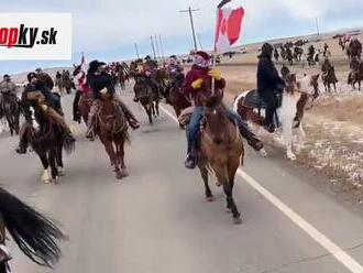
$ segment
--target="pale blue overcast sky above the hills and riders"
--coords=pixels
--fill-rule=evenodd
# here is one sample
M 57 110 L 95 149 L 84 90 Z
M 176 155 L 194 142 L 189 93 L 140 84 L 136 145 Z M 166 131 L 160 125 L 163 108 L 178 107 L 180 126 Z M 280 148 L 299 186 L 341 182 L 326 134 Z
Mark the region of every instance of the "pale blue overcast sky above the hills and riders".
M 220 0 L 0 0 L 1 12 L 73 13 L 73 62 L 1 62 L 0 74 L 34 69 L 37 66 L 64 66 L 87 59 L 134 58 L 134 43 L 140 54 L 152 54 L 150 35 L 161 34 L 165 53 L 186 53 L 193 47 L 187 13 L 191 6 L 196 32 L 204 48 L 212 47 L 216 6 Z M 240 44 L 267 39 L 311 34 L 315 18 L 321 31 L 363 26 L 362 0 L 244 0 L 232 6 L 245 8 Z

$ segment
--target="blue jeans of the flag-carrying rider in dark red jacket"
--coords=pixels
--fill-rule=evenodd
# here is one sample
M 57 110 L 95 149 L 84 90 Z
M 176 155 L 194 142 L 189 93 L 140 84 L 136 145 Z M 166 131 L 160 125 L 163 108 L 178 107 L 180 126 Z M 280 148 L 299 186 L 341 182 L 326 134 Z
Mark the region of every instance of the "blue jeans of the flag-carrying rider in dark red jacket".
M 227 117 L 238 124 L 243 138 L 249 138 L 252 134 L 249 124 L 232 109 L 227 109 Z M 199 134 L 201 120 L 202 106 L 197 106 L 191 114 L 190 122 L 187 127 L 188 153 L 190 153 L 195 146 L 197 136 Z

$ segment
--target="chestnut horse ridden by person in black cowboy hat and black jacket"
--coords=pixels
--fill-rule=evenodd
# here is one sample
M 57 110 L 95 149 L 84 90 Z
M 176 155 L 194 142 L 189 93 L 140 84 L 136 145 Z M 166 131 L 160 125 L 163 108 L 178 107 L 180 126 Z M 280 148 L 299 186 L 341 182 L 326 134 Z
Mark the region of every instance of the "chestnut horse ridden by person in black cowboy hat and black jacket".
M 108 153 L 117 179 L 129 176 L 124 163 L 124 144 L 130 141 L 127 118 L 120 105 L 108 95 L 101 102 L 95 119 L 95 132 Z

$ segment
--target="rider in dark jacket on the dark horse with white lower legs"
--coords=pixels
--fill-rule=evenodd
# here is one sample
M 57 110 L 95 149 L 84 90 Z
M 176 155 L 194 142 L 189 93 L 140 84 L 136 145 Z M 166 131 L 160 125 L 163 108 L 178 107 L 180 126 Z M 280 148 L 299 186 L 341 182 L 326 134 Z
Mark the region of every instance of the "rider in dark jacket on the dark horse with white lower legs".
M 26 127 L 33 123 L 31 107 L 34 109 L 34 116 L 37 121 L 40 121 L 42 114 L 48 117 L 54 123 L 64 130 L 65 138 L 68 138 L 70 141 L 75 141 L 69 127 L 64 120 L 59 98 L 52 94 L 47 86 L 44 85 L 37 76 L 38 74 L 33 72 L 28 74 L 29 84 L 25 86 L 21 97 L 25 123 L 23 123 L 19 133 L 20 143 L 16 149 L 16 153 L 20 154 L 26 153 L 28 143 L 24 140 L 24 134 Z

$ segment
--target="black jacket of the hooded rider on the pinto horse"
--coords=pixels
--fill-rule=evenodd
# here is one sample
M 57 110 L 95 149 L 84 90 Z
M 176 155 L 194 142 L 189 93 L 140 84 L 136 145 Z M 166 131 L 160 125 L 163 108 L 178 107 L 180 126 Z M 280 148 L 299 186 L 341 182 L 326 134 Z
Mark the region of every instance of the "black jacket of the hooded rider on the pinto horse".
M 260 56 L 257 66 L 257 90 L 261 95 L 266 92 L 276 92 L 285 86 L 284 80 L 278 76 L 278 73 L 271 58 Z

